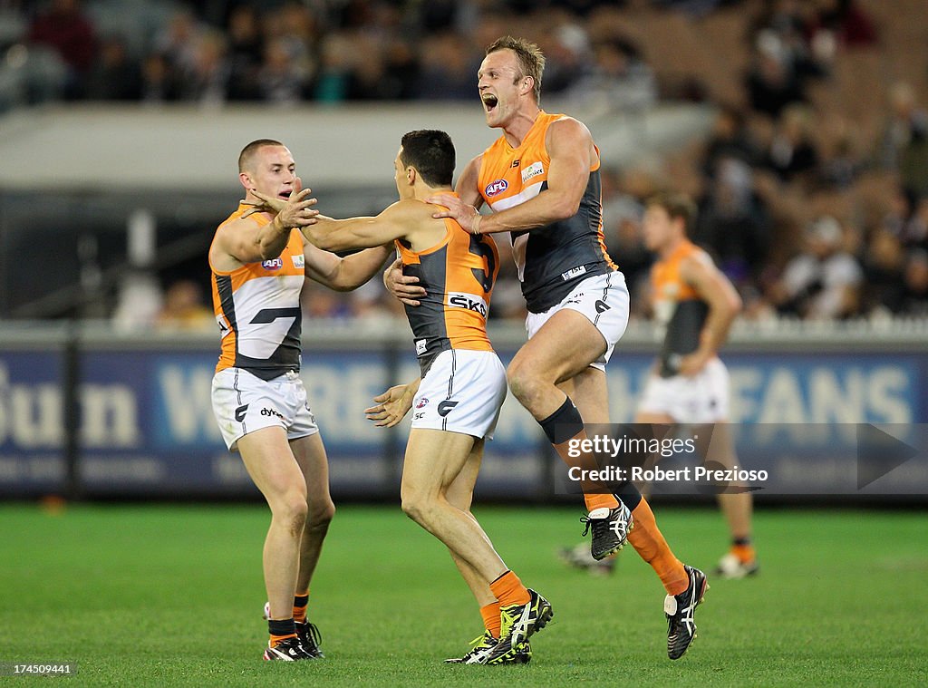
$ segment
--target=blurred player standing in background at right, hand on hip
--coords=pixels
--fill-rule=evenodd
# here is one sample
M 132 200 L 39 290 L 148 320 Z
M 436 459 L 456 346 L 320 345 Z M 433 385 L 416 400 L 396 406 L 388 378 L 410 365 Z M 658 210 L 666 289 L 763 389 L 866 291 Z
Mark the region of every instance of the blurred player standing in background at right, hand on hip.
M 683 194 L 658 194 L 646 202 L 644 241 L 658 257 L 651 267 L 651 298 L 665 334 L 635 422 L 713 423 L 708 458 L 730 468 L 735 450 L 726 424 L 728 370 L 716 354 L 741 310 L 741 297 L 712 258 L 688 239 L 695 220 L 696 206 Z M 718 502 L 731 548 L 715 572 L 725 578 L 753 575 L 758 565 L 751 541 L 751 493 L 720 494 Z M 570 564 L 592 570 L 608 571 L 614 564 L 614 559 L 597 562 L 582 545 L 561 553 Z

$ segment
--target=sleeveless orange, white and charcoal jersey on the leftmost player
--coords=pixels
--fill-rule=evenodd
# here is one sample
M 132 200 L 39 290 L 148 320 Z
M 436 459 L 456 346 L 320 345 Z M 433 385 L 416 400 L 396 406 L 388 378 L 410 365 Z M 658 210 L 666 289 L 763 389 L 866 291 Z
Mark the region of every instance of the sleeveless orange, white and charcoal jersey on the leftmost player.
M 238 220 L 250 207 L 239 204 L 220 227 Z M 263 214 L 251 218 L 260 226 L 270 222 Z M 213 312 L 222 337 L 217 372 L 235 367 L 273 380 L 288 370 L 300 370 L 304 261 L 303 235 L 293 229 L 277 258 L 231 272 L 217 270 L 211 262 Z

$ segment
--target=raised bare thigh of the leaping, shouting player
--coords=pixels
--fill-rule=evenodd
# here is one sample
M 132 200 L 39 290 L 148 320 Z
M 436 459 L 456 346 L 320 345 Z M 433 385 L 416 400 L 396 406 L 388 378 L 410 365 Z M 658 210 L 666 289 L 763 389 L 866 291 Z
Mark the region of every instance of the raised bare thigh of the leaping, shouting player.
M 573 378 L 605 351 L 606 340 L 593 323 L 582 313 L 562 308 L 516 352 L 509 374 L 557 384 Z

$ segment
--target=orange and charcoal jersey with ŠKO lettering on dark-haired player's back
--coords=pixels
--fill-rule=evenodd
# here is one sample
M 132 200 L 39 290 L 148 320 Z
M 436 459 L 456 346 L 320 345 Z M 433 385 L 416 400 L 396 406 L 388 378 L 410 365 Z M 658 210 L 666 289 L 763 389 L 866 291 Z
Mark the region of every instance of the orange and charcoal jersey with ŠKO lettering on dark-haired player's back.
M 406 306 L 424 376 L 435 357 L 448 349 L 493 351 L 486 335 L 490 296 L 499 272 L 496 243 L 471 236 L 454 220 L 445 219 L 445 239 L 425 251 L 395 241 L 403 274 L 419 278 L 426 295 Z

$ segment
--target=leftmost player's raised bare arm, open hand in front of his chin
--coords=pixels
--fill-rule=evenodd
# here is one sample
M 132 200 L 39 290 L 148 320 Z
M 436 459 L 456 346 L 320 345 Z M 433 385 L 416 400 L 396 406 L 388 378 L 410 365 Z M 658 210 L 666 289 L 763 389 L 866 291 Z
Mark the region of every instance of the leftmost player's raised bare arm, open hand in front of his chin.
M 316 199 L 307 198 L 311 190 L 294 189 L 287 201 L 271 199 L 277 207 L 269 212 L 275 214 L 275 217 L 264 226 L 259 226 L 251 214 L 268 211 L 255 207 L 246 211 L 238 220 L 221 227 L 213 242 L 214 255 L 211 257 L 215 264 L 221 269 L 235 269 L 246 263 L 277 258 L 290 240 L 292 229 L 306 227 L 316 221 L 318 211 L 312 207 Z M 230 261 L 234 265 L 227 265 Z

